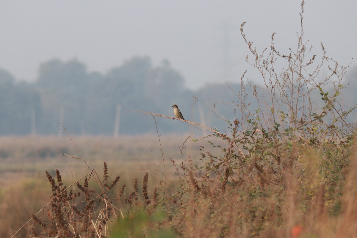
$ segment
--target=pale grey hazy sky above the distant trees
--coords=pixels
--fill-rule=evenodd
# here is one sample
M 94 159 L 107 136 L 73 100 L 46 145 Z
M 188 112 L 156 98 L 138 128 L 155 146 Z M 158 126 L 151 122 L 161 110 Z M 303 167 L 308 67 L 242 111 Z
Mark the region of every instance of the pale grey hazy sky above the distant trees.
M 105 73 L 133 56 L 168 59 L 186 86 L 238 80 L 245 69 L 245 33 L 260 51 L 296 48 L 301 1 L 0 0 L 0 68 L 35 80 L 42 62 L 76 58 Z M 305 39 L 341 64 L 357 57 L 356 1 L 307 0 Z M 356 59 L 357 60 L 357 59 Z M 353 62 L 352 66 L 356 66 Z

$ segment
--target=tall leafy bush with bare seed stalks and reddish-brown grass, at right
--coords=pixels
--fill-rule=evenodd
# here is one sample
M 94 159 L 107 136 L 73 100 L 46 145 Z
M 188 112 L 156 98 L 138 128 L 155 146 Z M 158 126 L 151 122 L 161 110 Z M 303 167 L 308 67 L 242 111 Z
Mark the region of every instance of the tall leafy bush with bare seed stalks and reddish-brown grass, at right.
M 349 115 L 356 106 L 342 103 L 348 66 L 326 56 L 322 43 L 318 59 L 305 40 L 303 5 L 297 47 L 286 55 L 275 46 L 275 33 L 270 47 L 258 52 L 244 33 L 245 22 L 241 25 L 247 62 L 264 82 L 252 85 L 259 108 L 249 110 L 245 72 L 240 91 L 232 90 L 237 118 L 221 117 L 230 133 L 207 136 L 221 153 L 202 146 L 204 166 L 188 160 L 177 168 L 185 179 L 172 194 L 176 202 L 164 204 L 180 236 L 289 236 L 297 224 L 312 231 L 322 216 L 341 214 L 355 133 Z M 321 79 L 323 70 L 330 74 Z

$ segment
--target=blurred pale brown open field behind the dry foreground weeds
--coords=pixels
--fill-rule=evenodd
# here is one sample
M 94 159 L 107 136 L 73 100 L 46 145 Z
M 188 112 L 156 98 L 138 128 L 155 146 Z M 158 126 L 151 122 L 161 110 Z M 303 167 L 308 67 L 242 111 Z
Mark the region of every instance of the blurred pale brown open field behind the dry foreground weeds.
M 102 174 L 104 162 L 110 178 L 120 176 L 120 184 L 127 189 L 134 178 L 142 178 L 149 171 L 149 187 L 160 186 L 162 179 L 177 183 L 175 168 L 170 158 L 181 161 L 180 147 L 188 136 L 157 135 L 110 137 L 25 136 L 0 137 L 0 236 L 11 237 L 31 214 L 40 211 L 51 201 L 51 184 L 45 171 L 55 176 L 61 173 L 64 184 L 71 184 L 95 169 Z M 203 142 L 207 143 L 207 142 Z M 198 161 L 199 145 L 188 139 L 183 159 Z M 81 159 L 71 158 L 84 158 Z M 164 166 L 165 161 L 165 166 Z M 120 189 L 120 186 L 119 188 Z M 128 193 L 127 191 L 124 193 Z M 25 228 L 15 237 L 25 237 Z

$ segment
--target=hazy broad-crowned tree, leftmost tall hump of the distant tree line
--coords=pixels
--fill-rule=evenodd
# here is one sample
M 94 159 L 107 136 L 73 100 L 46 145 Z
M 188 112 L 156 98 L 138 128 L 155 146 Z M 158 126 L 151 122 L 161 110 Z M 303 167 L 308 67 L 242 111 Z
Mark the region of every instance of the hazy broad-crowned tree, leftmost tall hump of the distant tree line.
M 62 123 L 61 110 L 67 130 L 76 134 L 85 130 L 87 93 L 95 81 L 91 76 L 86 66 L 75 59 L 65 63 L 55 59 L 40 66 L 37 85 L 44 108 L 42 133 L 56 133 L 59 123 Z

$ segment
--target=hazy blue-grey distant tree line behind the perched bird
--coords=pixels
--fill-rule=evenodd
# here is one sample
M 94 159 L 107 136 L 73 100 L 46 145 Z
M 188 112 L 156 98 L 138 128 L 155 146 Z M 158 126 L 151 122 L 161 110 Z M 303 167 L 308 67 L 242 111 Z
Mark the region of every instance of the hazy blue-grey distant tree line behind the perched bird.
M 15 82 L 9 72 L 0 69 L 0 135 L 51 135 L 61 131 L 62 123 L 76 135 L 114 135 L 117 105 L 120 134 L 156 132 L 152 118 L 125 111 L 173 116 L 173 104 L 180 107 L 185 119 L 223 130 L 227 125 L 214 110 L 234 121 L 237 111 L 227 109 L 236 103 L 233 98 L 237 90 L 240 83 L 227 86 L 223 82 L 189 90 L 169 61 L 154 66 L 150 57 L 133 57 L 105 74 L 88 72 L 86 65 L 77 60 L 54 59 L 40 65 L 38 78 L 31 83 Z M 247 102 L 253 102 L 251 88 L 246 91 Z M 192 96 L 209 102 L 213 109 Z M 199 107 L 204 109 L 201 114 Z M 252 111 L 257 107 L 252 104 Z M 194 130 L 178 121 L 156 120 L 160 133 Z

